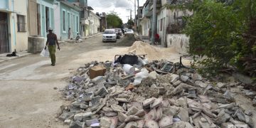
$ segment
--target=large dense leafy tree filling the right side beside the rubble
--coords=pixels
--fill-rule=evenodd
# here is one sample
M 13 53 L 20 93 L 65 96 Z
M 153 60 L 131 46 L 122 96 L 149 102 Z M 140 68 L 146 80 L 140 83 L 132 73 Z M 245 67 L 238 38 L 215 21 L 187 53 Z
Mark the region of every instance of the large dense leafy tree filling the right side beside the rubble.
M 209 72 L 233 66 L 256 77 L 256 1 L 193 0 L 166 5 L 193 10 L 183 30 L 190 37 L 189 53 Z

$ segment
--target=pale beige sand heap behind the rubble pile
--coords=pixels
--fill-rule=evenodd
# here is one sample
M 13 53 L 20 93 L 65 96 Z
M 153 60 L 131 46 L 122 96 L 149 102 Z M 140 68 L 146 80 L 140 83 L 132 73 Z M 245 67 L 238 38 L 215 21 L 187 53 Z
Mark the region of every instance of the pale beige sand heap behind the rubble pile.
M 151 46 L 149 43 L 144 43 L 142 41 L 135 41 L 131 47 L 128 48 L 128 52 L 136 51 L 137 55 L 146 54 L 147 58 L 162 58 L 164 56 L 161 48 Z

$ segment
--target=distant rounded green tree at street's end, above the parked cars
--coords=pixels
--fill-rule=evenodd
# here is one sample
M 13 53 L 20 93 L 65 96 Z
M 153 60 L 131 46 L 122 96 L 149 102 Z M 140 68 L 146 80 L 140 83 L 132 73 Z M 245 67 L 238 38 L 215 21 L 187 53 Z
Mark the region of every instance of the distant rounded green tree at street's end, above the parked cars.
M 117 12 L 110 11 L 110 14 L 107 14 L 107 28 L 122 28 L 122 26 L 122 19 L 119 18 Z

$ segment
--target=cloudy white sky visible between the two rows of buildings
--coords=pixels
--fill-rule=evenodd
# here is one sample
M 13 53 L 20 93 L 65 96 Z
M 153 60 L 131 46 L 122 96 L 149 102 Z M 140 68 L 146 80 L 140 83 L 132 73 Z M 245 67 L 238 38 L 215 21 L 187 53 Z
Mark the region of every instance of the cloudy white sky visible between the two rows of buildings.
M 134 19 L 134 0 L 88 0 L 87 2 L 88 6 L 92 6 L 92 9 L 94 9 L 94 13 L 99 12 L 102 14 L 102 12 L 105 12 L 108 14 L 110 11 L 117 12 L 123 23 L 127 23 L 127 16 L 130 16 L 130 11 L 127 11 L 127 9 L 132 9 L 132 18 Z M 146 0 L 139 0 L 139 6 L 143 6 L 145 2 Z M 136 0 L 136 10 L 137 4 Z

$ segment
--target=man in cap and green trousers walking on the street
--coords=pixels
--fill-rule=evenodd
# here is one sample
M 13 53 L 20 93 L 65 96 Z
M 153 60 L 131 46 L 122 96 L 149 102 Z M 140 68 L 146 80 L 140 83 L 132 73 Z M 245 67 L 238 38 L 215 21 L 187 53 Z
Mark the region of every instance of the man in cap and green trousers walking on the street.
M 57 40 L 57 36 L 55 33 L 53 33 L 52 28 L 48 28 L 48 34 L 47 34 L 47 41 L 46 41 L 46 46 L 48 46 L 48 50 L 50 53 L 50 60 L 51 60 L 51 65 L 55 65 L 55 51 L 56 51 L 56 44 L 58 46 L 58 50 L 60 50 L 60 46 Z M 46 49 L 46 47 L 45 47 Z

